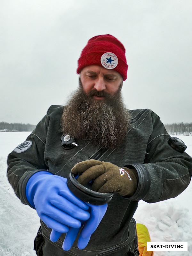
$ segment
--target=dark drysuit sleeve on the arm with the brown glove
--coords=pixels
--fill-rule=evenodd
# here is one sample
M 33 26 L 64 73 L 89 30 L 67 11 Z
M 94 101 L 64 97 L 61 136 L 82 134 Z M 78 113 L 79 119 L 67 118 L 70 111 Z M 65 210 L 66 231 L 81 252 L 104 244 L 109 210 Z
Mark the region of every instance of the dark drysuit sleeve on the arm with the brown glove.
M 148 203 L 178 196 L 191 180 L 192 158 L 172 148 L 170 135 L 153 111 L 150 112 L 152 132 L 148 140 L 144 164 L 134 163 L 139 176 L 138 188 L 130 200 Z

